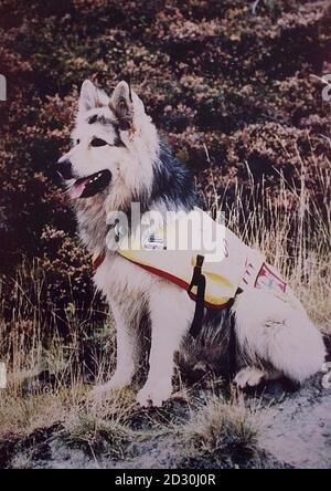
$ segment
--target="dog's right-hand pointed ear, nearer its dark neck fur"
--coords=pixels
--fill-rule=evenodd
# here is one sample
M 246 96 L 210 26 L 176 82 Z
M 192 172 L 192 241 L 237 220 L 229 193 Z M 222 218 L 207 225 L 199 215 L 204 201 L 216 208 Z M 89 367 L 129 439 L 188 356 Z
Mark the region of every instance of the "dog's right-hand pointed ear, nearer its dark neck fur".
M 120 129 L 128 130 L 134 128 L 134 101 L 127 82 L 122 81 L 116 85 L 109 106 L 118 119 Z

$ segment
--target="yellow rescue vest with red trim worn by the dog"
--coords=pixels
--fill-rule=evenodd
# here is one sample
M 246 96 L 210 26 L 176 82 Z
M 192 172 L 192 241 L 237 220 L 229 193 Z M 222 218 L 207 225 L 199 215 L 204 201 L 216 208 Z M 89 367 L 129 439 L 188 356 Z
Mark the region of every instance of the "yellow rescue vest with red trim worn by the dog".
M 195 218 L 200 217 L 200 226 L 194 231 L 194 238 L 197 238 L 204 247 L 188 249 L 173 247 L 178 241 L 179 230 L 188 230 L 192 213 Z M 216 241 L 211 240 L 212 236 Z M 211 249 L 212 243 L 216 243 L 215 249 Z M 260 252 L 246 245 L 228 228 L 216 223 L 199 208 L 184 213 L 180 220 L 167 223 L 166 228 L 157 230 L 145 241 L 134 240 L 129 248 L 120 244 L 117 253 L 186 291 L 192 280 L 196 257 L 202 255 L 204 258 L 202 273 L 205 276 L 204 302 L 209 307 L 222 309 L 238 291 L 252 288 L 263 289 L 285 301 L 288 301 L 289 296 L 295 299 L 278 271 L 266 263 Z M 103 262 L 104 257 L 104 251 L 95 254 L 95 269 Z M 196 286 L 193 286 L 190 296 L 195 300 L 195 295 Z

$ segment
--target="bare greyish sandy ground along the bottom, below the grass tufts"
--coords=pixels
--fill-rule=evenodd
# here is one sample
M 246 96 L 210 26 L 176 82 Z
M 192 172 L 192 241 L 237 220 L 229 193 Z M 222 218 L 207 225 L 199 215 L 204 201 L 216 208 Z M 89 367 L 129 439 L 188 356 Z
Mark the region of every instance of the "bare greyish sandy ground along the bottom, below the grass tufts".
M 183 458 L 183 447 L 175 433 L 151 436 L 131 443 L 125 460 L 104 453 L 87 455 L 70 447 L 61 438 L 61 428 L 39 431 L 28 442 L 0 446 L 1 467 L 9 468 L 331 468 L 331 388 L 321 386 L 321 375 L 296 390 L 280 383 L 247 395 L 247 403 L 258 406 L 261 421 L 259 452 L 247 462 L 231 458 Z M 258 403 L 258 404 L 257 404 Z M 179 408 L 182 410 L 182 408 Z M 174 406 L 175 410 L 175 406 Z M 10 447 L 10 448 L 9 448 Z

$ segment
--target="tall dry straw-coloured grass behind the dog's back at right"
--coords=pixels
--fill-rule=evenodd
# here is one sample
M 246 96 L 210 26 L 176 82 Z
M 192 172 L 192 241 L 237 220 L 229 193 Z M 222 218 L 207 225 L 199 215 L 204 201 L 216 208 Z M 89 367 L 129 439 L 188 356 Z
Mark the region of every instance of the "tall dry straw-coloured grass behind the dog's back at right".
M 279 150 L 287 152 L 284 142 Z M 313 157 L 313 155 L 312 155 Z M 279 188 L 267 189 L 255 182 L 247 165 L 252 190 L 247 195 L 237 184 L 234 202 L 226 191 L 205 197 L 214 213 L 225 216 L 226 224 L 246 243 L 261 250 L 295 290 L 311 318 L 331 333 L 331 163 L 307 168 L 297 152 L 299 187 L 279 176 Z M 314 176 L 319 199 L 307 186 L 307 175 Z M 213 181 L 213 176 L 211 176 Z M 275 198 L 277 196 L 277 198 Z

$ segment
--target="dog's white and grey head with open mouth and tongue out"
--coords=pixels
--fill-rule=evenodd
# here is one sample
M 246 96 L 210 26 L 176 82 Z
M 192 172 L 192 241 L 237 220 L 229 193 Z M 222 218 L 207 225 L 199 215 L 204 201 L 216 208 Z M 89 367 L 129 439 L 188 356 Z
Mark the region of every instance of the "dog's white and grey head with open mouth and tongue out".
M 120 82 L 111 96 L 92 82 L 82 85 L 73 147 L 57 161 L 68 195 L 105 195 L 115 209 L 148 192 L 158 137 L 138 95 Z

